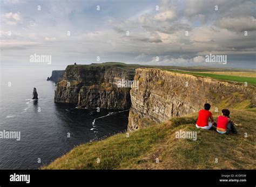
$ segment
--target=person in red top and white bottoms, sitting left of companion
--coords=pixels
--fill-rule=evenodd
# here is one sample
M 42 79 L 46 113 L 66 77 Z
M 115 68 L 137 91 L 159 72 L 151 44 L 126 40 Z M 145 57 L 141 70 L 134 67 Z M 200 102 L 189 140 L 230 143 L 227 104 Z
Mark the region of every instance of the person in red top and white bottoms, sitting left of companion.
M 210 108 L 211 108 L 211 105 L 209 103 L 205 103 L 204 110 L 200 110 L 198 112 L 198 120 L 196 124 L 197 128 L 204 128 L 209 130 L 214 124 L 212 112 L 209 111 Z M 211 122 L 208 122 L 209 118 L 211 119 Z

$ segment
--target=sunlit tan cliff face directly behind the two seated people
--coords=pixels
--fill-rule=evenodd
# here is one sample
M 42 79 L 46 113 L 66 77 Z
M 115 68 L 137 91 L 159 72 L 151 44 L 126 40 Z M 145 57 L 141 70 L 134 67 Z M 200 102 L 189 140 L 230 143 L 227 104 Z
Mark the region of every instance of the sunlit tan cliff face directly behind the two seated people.
M 130 91 L 130 131 L 147 125 L 149 119 L 161 122 L 199 111 L 205 102 L 212 104 L 213 111 L 256 104 L 255 88 L 206 77 L 138 68 L 134 81 L 139 81 L 139 89 Z

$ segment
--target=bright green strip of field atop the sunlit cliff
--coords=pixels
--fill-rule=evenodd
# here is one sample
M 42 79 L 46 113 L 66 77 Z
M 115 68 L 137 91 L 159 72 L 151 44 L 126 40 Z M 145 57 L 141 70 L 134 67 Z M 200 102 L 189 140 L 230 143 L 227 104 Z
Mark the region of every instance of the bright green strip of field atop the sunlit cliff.
M 169 70 L 169 69 L 167 69 L 167 70 Z M 235 82 L 240 82 L 240 83 L 247 82 L 248 84 L 256 85 L 256 78 L 254 78 L 254 77 L 207 74 L 207 73 L 197 73 L 197 72 L 191 72 L 191 71 L 180 71 L 180 70 L 169 70 L 169 71 L 174 71 L 174 72 L 183 73 L 183 74 L 196 75 L 196 76 L 211 77 L 211 78 L 215 78 L 218 80 L 235 81 Z

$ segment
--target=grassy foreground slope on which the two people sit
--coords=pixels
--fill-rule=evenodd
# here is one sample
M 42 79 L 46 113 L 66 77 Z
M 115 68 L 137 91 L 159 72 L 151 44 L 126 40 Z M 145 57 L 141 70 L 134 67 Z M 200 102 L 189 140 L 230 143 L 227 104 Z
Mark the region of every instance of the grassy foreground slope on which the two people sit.
M 130 138 L 120 133 L 85 143 L 42 169 L 255 169 L 256 113 L 231 110 L 231 117 L 239 125 L 235 135 L 197 129 L 193 113 L 131 132 Z M 197 140 L 176 139 L 179 130 L 196 131 Z

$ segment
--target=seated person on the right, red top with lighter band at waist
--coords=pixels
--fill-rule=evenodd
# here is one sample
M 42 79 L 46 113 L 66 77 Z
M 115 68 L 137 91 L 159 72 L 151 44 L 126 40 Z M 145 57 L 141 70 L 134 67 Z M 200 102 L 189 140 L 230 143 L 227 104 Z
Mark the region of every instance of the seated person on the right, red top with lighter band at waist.
M 217 132 L 220 134 L 228 134 L 230 131 L 237 134 L 234 123 L 230 119 L 230 111 L 228 109 L 223 109 L 221 111 L 221 116 L 218 116 L 217 119 Z

